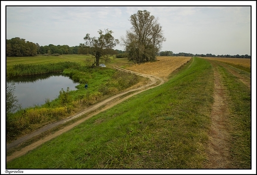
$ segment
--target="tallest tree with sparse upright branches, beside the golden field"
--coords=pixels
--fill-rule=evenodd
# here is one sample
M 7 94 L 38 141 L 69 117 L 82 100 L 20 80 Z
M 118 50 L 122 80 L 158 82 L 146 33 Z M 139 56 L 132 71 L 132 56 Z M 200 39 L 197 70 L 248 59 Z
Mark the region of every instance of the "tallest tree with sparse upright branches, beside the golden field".
M 162 42 L 166 41 L 162 27 L 147 10 L 138 10 L 130 16 L 132 28 L 127 31 L 126 38 L 122 38 L 129 61 L 134 63 L 156 61 Z

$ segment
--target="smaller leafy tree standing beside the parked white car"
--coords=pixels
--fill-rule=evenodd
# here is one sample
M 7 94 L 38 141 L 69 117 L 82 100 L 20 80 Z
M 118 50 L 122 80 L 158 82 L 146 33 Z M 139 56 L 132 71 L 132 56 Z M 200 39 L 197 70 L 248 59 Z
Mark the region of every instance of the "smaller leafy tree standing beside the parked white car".
M 112 31 L 105 29 L 104 31 L 98 31 L 98 38 L 90 37 L 89 34 L 86 34 L 84 37 L 85 46 L 89 46 L 89 53 L 95 59 L 94 64 L 96 64 L 97 67 L 99 66 L 100 59 L 107 62 L 109 60 L 109 55 L 114 55 L 116 53 L 114 52 L 113 48 L 119 43 L 119 40 L 114 39 L 112 33 Z

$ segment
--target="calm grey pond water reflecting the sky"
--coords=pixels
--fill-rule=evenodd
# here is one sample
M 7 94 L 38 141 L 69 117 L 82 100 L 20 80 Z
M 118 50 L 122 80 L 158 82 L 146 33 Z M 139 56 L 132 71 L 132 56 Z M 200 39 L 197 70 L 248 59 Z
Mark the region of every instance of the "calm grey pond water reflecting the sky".
M 45 99 L 52 101 L 57 98 L 62 88 L 64 91 L 67 91 L 67 87 L 70 88 L 70 91 L 77 90 L 75 86 L 79 84 L 61 73 L 23 76 L 7 81 L 7 83 L 11 82 L 15 83 L 14 96 L 22 108 L 43 105 Z

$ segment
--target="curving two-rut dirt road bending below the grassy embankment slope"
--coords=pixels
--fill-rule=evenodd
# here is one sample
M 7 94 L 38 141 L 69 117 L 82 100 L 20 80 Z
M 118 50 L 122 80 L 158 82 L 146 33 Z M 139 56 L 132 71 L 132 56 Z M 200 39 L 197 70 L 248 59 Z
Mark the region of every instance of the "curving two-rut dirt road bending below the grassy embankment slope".
M 85 110 L 83 110 L 83 111 L 81 111 L 81 112 L 79 112 L 79 113 L 77 113 L 77 114 L 75 114 L 75 115 L 73 115 L 73 116 L 71 116 L 69 118 L 66 118 L 66 119 L 63 119 L 61 121 L 48 124 L 48 125 L 44 126 L 43 128 L 37 130 L 36 132 L 34 132 L 32 134 L 29 134 L 27 136 L 24 136 L 24 137 L 18 139 L 18 140 L 13 141 L 10 144 L 7 144 L 6 145 L 6 149 L 9 150 L 10 148 L 15 147 L 15 146 L 19 145 L 20 143 L 22 143 L 22 142 L 24 142 L 26 140 L 29 140 L 29 139 L 31 139 L 31 138 L 39 135 L 39 134 L 42 134 L 43 132 L 45 132 L 45 131 L 47 131 L 49 129 L 52 129 L 52 128 L 54 128 L 54 127 L 56 127 L 58 125 L 61 125 L 61 124 L 65 123 L 65 122 L 67 122 L 67 121 L 70 121 L 70 120 L 75 119 L 75 118 L 77 118 L 79 116 L 82 116 L 82 115 L 84 115 L 84 114 L 86 114 L 88 112 L 94 111 L 93 113 L 87 115 L 85 118 L 83 118 L 83 119 L 81 119 L 81 120 L 79 120 L 79 121 L 77 121 L 77 122 L 75 122 L 75 123 L 73 123 L 73 124 L 71 124 L 71 125 L 69 125 L 67 127 L 64 127 L 63 129 L 61 129 L 59 131 L 56 131 L 54 134 L 46 136 L 45 138 L 43 138 L 41 140 L 38 140 L 38 141 L 36 141 L 36 142 L 34 142 L 34 143 L 32 143 L 32 144 L 22 148 L 21 150 L 18 150 L 16 152 L 14 152 L 12 155 L 6 157 L 6 161 L 8 162 L 8 161 L 11 161 L 14 158 L 20 157 L 20 156 L 26 154 L 28 151 L 31 151 L 31 150 L 35 149 L 36 147 L 40 146 L 44 142 L 46 142 L 48 140 L 51 140 L 51 139 L 61 135 L 62 133 L 71 130 L 73 127 L 75 127 L 75 126 L 79 125 L 80 123 L 86 121 L 88 118 L 90 118 L 90 117 L 92 117 L 92 116 L 94 116 L 94 115 L 96 115 L 96 114 L 98 114 L 98 113 L 100 113 L 100 112 L 102 112 L 104 110 L 107 110 L 107 109 L 113 107 L 114 105 L 117 105 L 117 104 L 119 104 L 119 103 L 129 99 L 130 97 L 132 97 L 132 96 L 134 96 L 136 94 L 139 94 L 139 93 L 141 93 L 141 92 L 143 92 L 145 90 L 148 90 L 148 89 L 160 86 L 161 84 L 164 83 L 164 80 L 162 78 L 157 77 L 157 76 L 148 75 L 148 74 L 142 74 L 142 73 L 134 72 L 134 71 L 131 71 L 131 70 L 125 70 L 125 69 L 122 69 L 122 68 L 118 68 L 117 66 L 114 66 L 114 68 L 117 69 L 117 70 L 128 71 L 130 73 L 134 73 L 134 74 L 137 74 L 137 75 L 140 75 L 140 76 L 143 76 L 143 77 L 147 77 L 147 78 L 149 78 L 151 80 L 151 82 L 148 83 L 148 84 L 145 84 L 145 85 L 143 85 L 141 87 L 138 87 L 138 88 L 135 88 L 135 89 L 130 89 L 128 91 L 125 91 L 125 92 L 119 93 L 117 95 L 114 95 L 114 96 L 112 96 L 112 97 L 110 97 L 110 98 L 108 98 L 108 99 L 106 99 L 106 100 L 104 100 L 104 101 L 102 101 L 102 102 L 100 102 L 98 104 L 95 104 L 95 105 L 92 105 L 92 106 L 86 108 Z M 116 102 L 113 102 L 115 99 L 118 99 L 119 97 L 121 97 L 121 96 L 123 96 L 125 94 L 128 94 L 129 92 L 134 92 L 134 93 L 132 93 L 129 96 L 126 96 L 126 97 L 124 97 L 124 98 L 122 98 L 122 99 L 120 99 L 120 100 L 118 100 Z M 100 110 L 97 110 L 98 108 L 100 108 L 103 105 L 105 105 L 103 108 L 101 108 Z

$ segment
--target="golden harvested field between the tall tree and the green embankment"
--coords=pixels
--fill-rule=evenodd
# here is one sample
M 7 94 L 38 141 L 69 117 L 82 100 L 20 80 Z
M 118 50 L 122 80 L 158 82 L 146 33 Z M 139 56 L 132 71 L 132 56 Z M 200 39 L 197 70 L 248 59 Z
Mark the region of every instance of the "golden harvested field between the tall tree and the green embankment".
M 167 80 L 171 72 L 179 68 L 181 65 L 187 63 L 187 61 L 190 59 L 191 57 L 157 57 L 157 62 L 135 64 L 126 69 L 144 74 L 155 75 Z

